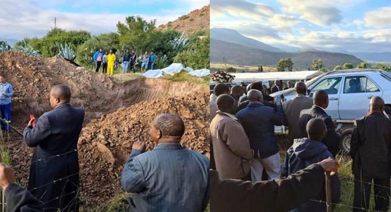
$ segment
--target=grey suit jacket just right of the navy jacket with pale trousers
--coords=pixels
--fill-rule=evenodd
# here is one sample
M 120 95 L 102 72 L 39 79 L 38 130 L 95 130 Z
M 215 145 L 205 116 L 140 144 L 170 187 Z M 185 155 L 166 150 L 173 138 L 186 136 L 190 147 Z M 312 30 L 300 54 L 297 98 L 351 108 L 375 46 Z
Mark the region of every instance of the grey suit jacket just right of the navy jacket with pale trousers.
M 301 138 L 298 121 L 301 110 L 311 108 L 312 105 L 312 98 L 306 97 L 302 94 L 298 94 L 297 96 L 284 103 L 283 108 L 286 117 L 284 125 L 289 127 L 288 140 L 290 145 L 293 144 L 294 139 Z

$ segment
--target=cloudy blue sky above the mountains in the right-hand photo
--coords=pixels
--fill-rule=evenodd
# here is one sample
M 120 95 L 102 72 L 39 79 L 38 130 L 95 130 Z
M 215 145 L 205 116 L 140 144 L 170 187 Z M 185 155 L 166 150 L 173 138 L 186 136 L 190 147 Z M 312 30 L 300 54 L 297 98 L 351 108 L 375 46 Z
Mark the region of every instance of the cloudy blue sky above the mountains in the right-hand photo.
M 291 51 L 391 51 L 390 0 L 211 0 L 210 26 Z

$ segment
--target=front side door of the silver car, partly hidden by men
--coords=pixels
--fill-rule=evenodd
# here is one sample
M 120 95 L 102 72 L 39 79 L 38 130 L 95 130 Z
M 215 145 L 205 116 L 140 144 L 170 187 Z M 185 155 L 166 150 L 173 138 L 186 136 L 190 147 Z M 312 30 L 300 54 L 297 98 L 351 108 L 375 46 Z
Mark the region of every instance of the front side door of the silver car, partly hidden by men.
M 327 92 L 329 95 L 329 106 L 326 108 L 326 112 L 333 120 L 340 119 L 338 101 L 342 87 L 341 81 L 342 76 L 327 77 L 319 80 L 318 83 L 310 87 L 310 97 L 312 97 L 317 90 L 325 90 Z

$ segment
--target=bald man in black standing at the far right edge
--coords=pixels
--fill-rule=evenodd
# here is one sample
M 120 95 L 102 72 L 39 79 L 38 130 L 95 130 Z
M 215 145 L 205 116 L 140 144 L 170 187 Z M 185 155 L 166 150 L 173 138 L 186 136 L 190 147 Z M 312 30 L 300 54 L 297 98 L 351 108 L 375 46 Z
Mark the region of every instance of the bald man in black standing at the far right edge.
M 353 207 L 368 210 L 373 181 L 375 210 L 385 212 L 390 208 L 391 119 L 383 114 L 381 97 L 373 97 L 369 108 L 366 116 L 355 120 L 350 140 L 355 179 Z

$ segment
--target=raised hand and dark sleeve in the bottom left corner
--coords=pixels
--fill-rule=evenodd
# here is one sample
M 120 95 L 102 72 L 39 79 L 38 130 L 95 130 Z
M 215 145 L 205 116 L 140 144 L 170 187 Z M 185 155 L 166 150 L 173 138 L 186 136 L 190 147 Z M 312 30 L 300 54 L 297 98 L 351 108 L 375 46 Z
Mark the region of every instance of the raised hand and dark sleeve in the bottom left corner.
M 0 186 L 5 193 L 7 212 L 42 212 L 38 200 L 26 189 L 15 183 L 13 170 L 0 163 Z

